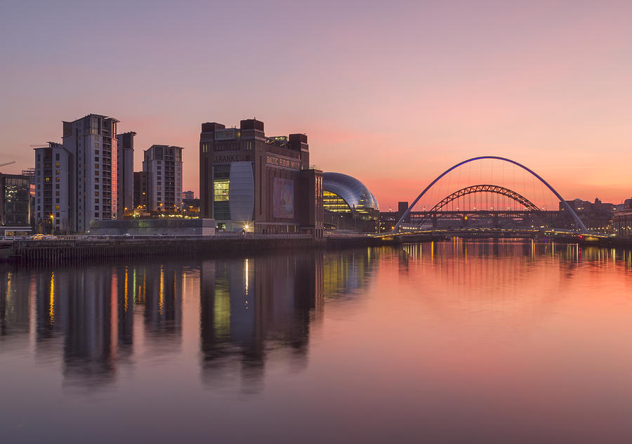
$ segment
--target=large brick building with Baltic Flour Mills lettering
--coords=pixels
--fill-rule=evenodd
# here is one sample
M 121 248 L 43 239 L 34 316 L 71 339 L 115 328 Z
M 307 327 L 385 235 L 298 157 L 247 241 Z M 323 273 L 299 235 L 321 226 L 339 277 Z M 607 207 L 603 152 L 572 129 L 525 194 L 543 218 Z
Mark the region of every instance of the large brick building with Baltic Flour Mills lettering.
M 202 124 L 200 216 L 217 228 L 322 236 L 322 171 L 310 168 L 305 134 L 265 136 L 263 122 Z

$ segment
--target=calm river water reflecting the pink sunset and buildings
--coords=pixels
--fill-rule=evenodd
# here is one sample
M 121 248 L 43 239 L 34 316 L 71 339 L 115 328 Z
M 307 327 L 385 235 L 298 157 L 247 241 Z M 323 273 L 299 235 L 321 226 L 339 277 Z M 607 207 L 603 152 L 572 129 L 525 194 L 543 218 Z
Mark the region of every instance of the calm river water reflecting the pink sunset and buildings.
M 629 443 L 631 267 L 454 241 L 3 270 L 0 442 Z

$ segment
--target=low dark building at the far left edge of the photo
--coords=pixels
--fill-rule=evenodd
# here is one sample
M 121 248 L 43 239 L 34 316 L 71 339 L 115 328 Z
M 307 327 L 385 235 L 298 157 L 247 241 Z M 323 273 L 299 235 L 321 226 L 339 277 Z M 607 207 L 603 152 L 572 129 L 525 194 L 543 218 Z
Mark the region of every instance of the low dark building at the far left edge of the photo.
M 3 226 L 31 224 L 29 176 L 0 173 L 0 223 Z

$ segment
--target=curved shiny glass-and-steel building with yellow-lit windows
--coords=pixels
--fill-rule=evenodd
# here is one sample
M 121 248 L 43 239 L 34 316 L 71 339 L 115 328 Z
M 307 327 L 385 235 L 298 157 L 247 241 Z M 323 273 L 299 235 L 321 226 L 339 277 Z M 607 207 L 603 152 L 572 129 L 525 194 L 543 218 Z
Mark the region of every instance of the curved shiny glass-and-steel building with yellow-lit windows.
M 341 173 L 323 173 L 325 228 L 376 231 L 380 206 L 369 188 Z

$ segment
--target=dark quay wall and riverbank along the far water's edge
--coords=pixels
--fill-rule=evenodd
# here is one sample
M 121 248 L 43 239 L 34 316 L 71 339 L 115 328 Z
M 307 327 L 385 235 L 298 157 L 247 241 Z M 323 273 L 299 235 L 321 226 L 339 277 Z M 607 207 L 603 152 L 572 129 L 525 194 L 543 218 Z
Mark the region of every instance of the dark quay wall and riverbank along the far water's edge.
M 397 246 L 449 240 L 452 237 L 480 240 L 506 239 L 506 233 L 473 235 L 420 233 L 419 235 L 329 235 L 315 239 L 308 235 L 218 235 L 218 236 L 133 236 L 133 237 L 65 237 L 44 240 L 15 240 L 0 243 L 0 262 L 19 266 L 50 266 L 74 263 L 105 263 L 120 259 L 197 259 L 260 254 L 271 251 L 305 249 L 348 249 Z M 502 235 L 501 235 L 502 234 Z M 595 237 L 579 235 L 536 235 L 539 242 L 580 244 L 582 247 L 632 249 L 629 237 Z

